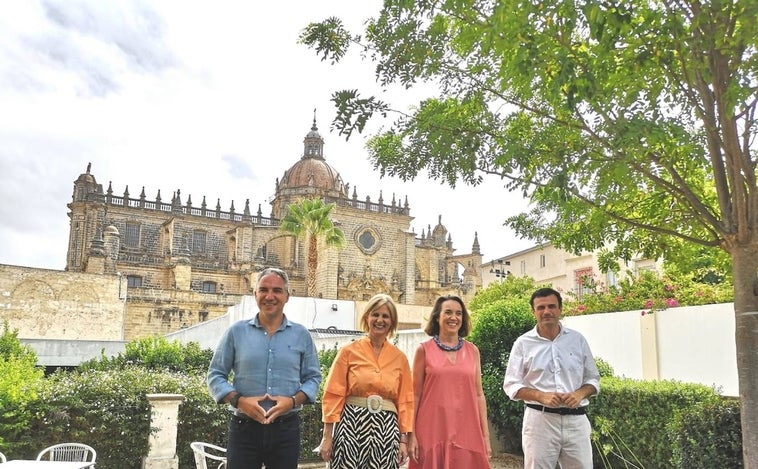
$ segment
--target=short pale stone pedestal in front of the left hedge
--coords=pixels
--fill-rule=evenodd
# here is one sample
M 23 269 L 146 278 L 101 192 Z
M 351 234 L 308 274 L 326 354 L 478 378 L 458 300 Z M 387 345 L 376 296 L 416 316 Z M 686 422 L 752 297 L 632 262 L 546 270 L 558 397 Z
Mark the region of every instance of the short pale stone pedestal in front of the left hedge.
M 176 455 L 176 430 L 179 423 L 179 404 L 184 401 L 181 394 L 148 394 L 152 407 L 150 449 L 142 461 L 142 469 L 178 469 Z

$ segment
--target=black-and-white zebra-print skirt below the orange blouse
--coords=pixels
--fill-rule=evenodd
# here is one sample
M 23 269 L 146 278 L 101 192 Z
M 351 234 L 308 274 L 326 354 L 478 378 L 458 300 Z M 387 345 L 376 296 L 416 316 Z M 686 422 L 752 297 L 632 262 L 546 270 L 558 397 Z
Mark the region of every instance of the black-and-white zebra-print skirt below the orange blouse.
M 346 405 L 334 427 L 330 469 L 397 469 L 397 415 Z

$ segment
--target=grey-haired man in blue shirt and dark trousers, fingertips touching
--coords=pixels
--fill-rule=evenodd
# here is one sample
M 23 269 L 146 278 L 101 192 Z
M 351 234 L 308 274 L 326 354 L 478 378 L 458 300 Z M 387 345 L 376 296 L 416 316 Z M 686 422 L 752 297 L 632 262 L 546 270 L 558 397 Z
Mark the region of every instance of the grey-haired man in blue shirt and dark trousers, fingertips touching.
M 289 278 L 283 270 L 258 274 L 258 314 L 227 329 L 208 369 L 216 402 L 235 410 L 229 421 L 228 469 L 296 469 L 302 404 L 314 402 L 321 367 L 308 330 L 284 315 Z M 233 373 L 234 382 L 229 382 Z

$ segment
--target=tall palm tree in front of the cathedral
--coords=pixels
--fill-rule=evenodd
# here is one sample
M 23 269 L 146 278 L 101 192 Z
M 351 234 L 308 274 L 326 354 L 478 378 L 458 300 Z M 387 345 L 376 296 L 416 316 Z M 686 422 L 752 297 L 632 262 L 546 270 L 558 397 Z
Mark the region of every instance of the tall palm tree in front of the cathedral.
M 325 204 L 321 199 L 302 199 L 287 205 L 287 215 L 282 219 L 279 230 L 308 242 L 308 296 L 316 292 L 316 268 L 318 267 L 318 239 L 327 246 L 341 248 L 345 245 L 345 234 L 334 226 L 329 215 L 334 204 Z

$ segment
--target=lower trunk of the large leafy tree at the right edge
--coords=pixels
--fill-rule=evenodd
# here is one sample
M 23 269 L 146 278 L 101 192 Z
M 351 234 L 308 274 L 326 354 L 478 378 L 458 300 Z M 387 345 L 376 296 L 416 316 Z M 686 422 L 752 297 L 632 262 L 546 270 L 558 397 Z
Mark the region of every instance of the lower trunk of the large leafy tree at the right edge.
M 758 469 L 758 245 L 737 246 L 731 254 L 742 455 L 745 469 Z

